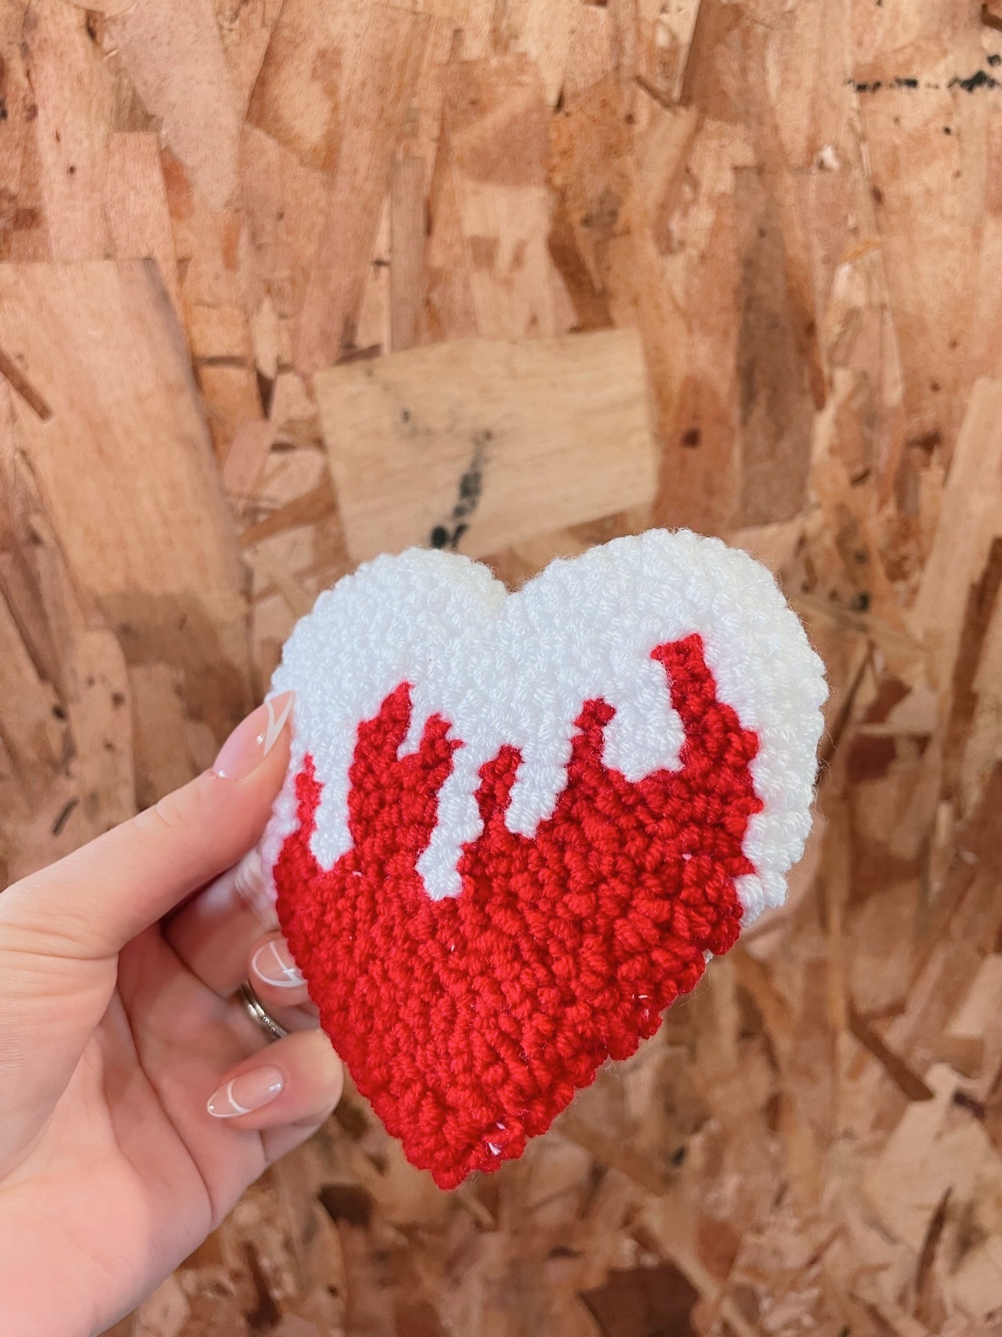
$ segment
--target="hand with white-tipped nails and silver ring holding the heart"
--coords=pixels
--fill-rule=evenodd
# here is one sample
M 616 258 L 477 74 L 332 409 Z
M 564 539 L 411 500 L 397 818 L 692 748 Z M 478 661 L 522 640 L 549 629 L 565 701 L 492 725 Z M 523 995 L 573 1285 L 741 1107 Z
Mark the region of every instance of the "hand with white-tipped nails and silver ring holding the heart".
M 4 1337 L 103 1332 L 337 1104 L 341 1064 L 266 932 L 255 856 L 239 862 L 289 763 L 290 702 L 0 894 Z M 248 973 L 287 1039 L 232 999 Z

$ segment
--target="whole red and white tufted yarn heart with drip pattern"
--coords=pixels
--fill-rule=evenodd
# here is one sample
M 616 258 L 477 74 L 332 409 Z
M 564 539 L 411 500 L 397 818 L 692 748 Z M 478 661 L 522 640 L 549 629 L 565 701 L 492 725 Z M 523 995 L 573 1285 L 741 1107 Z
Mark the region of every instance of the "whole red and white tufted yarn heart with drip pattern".
M 823 666 L 716 539 L 616 539 L 512 595 L 466 558 L 377 558 L 295 627 L 289 689 L 279 921 L 444 1189 L 653 1035 L 782 904 L 810 829 Z

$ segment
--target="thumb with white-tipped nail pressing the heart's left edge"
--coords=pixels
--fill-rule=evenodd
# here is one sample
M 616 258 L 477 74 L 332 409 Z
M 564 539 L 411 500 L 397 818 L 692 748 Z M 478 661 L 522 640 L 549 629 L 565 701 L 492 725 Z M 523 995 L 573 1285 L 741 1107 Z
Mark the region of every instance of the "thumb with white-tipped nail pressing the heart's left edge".
M 258 841 L 289 765 L 293 694 L 212 770 L 0 894 L 0 1173 L 49 1116 L 115 989 L 118 953 Z

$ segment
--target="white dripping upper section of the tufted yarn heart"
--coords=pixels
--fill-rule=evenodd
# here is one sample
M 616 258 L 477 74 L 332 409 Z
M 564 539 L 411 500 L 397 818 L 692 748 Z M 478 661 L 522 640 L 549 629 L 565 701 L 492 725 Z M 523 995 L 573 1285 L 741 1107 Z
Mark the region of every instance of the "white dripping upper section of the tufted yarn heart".
M 675 769 L 683 727 L 660 644 L 697 631 L 717 695 L 759 735 L 751 763 L 764 810 L 739 880 L 744 923 L 786 896 L 786 873 L 810 829 L 824 670 L 770 572 L 719 539 L 652 529 L 570 562 L 553 562 L 517 594 L 486 567 L 411 548 L 382 556 L 322 594 L 286 643 L 271 691 L 297 693 L 293 761 L 262 844 L 266 868 L 295 830 L 294 781 L 310 753 L 323 785 L 313 852 L 330 868 L 351 846 L 349 769 L 358 725 L 402 682 L 414 714 L 402 751 L 441 714 L 464 746 L 438 796 L 438 821 L 418 861 L 428 893 L 461 890 L 462 846 L 481 830 L 480 769 L 504 743 L 520 749 L 506 814 L 532 836 L 565 783 L 574 719 L 585 701 L 616 709 L 605 765 L 637 781 Z

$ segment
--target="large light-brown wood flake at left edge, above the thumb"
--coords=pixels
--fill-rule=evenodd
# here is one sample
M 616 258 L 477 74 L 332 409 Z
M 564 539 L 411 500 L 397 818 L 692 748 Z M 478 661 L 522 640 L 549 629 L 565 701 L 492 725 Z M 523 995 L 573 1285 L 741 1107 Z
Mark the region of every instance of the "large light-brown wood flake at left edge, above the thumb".
M 48 409 L 16 401 L 73 578 L 127 659 L 180 663 L 192 709 L 224 730 L 246 701 L 243 575 L 156 266 L 0 266 L 0 348 Z

